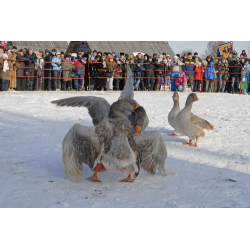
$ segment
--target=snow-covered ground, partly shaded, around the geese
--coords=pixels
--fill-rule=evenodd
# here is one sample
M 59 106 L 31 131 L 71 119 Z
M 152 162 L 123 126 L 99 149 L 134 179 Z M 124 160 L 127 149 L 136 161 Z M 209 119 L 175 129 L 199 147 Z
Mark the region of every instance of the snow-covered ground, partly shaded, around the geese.
M 110 103 L 120 93 L 0 93 L 0 207 L 250 207 L 250 96 L 198 94 L 193 113 L 215 130 L 198 148 L 169 137 L 172 93 L 136 92 L 150 125 L 168 149 L 168 176 L 141 172 L 136 182 L 120 183 L 123 173 L 100 173 L 92 183 L 65 179 L 62 140 L 75 124 L 92 125 L 85 108 L 58 108 L 51 101 L 95 95 Z M 180 94 L 181 107 L 188 94 Z

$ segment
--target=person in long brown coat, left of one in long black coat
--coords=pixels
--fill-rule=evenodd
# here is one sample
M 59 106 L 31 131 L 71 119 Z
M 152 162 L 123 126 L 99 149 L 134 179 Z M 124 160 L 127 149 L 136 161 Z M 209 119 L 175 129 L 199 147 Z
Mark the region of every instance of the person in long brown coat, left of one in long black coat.
M 25 62 L 28 61 L 28 58 L 24 57 L 22 49 L 17 53 L 16 60 L 17 90 L 25 91 L 27 85 L 27 78 L 25 77 Z

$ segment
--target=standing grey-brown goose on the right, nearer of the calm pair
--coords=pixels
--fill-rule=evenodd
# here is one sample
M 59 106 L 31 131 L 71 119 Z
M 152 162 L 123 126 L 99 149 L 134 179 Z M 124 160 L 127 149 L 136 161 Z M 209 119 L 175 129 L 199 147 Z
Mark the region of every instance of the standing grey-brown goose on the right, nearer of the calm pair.
M 198 140 L 206 135 L 206 130 L 214 129 L 208 121 L 191 113 L 193 103 L 196 101 L 199 101 L 198 96 L 191 93 L 187 98 L 185 108 L 175 118 L 176 131 L 189 137 L 189 142 L 185 145 L 192 147 L 198 146 Z M 193 144 L 193 140 L 196 140 L 195 144 Z

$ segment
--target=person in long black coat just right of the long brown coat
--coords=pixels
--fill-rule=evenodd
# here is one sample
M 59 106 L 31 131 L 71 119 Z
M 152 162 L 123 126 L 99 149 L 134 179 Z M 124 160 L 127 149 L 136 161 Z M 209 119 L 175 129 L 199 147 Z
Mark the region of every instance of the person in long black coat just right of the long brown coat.
M 33 50 L 31 48 L 28 49 L 28 53 L 25 55 L 25 57 L 28 59 L 26 61 L 26 75 L 27 77 L 27 91 L 33 90 L 33 84 L 34 84 L 34 75 L 35 75 L 35 67 L 37 62 L 37 56 L 35 53 L 33 53 Z

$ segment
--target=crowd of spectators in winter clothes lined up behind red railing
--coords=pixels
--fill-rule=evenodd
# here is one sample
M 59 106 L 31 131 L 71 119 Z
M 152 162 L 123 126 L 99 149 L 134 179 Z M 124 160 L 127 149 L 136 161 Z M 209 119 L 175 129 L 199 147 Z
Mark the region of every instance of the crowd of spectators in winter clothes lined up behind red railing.
M 249 90 L 250 64 L 245 51 L 230 58 L 198 53 L 174 58 L 166 53 L 117 54 L 80 51 L 17 50 L 0 47 L 0 91 L 117 91 L 124 88 L 126 68 L 133 72 L 135 91 L 201 91 L 243 94 Z

